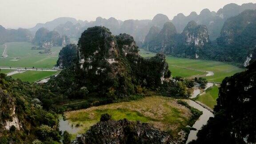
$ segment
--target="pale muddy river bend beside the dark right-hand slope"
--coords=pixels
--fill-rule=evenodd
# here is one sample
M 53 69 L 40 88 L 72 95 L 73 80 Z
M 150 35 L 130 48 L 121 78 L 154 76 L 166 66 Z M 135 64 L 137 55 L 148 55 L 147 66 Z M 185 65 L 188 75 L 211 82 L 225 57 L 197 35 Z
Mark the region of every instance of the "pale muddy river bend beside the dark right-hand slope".
M 191 107 L 196 108 L 203 112 L 203 114 L 199 117 L 198 120 L 196 120 L 196 123 L 193 125 L 193 128 L 196 128 L 196 131 L 190 131 L 188 135 L 188 140 L 186 142 L 186 144 L 188 144 L 190 141 L 197 139 L 196 134 L 198 130 L 200 130 L 203 127 L 203 125 L 207 124 L 207 121 L 209 120 L 209 118 L 213 117 L 214 115 L 212 112 L 208 111 L 206 108 L 202 107 L 200 104 L 197 104 L 193 100 L 184 100 L 184 101 L 187 102 L 188 105 L 190 105 Z

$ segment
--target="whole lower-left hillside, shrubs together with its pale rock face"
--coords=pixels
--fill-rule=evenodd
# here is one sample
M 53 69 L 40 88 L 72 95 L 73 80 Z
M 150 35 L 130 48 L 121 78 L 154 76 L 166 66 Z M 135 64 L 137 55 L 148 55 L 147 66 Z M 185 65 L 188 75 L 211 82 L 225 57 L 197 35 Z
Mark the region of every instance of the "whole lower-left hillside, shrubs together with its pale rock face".
M 56 114 L 35 98 L 36 86 L 0 74 L 0 143 L 59 141 Z

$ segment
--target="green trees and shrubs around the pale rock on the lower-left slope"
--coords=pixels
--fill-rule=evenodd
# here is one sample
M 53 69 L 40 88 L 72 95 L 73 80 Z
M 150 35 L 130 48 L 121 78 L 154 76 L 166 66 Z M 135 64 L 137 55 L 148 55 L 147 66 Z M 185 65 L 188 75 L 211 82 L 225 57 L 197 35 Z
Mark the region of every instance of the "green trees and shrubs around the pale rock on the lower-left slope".
M 52 131 L 58 133 L 56 114 L 42 109 L 40 100 L 34 98 L 37 89 L 36 85 L 0 75 L 0 123 L 12 120 L 12 110 L 15 108 L 15 116 L 22 126 L 19 131 L 15 126 L 11 126 L 9 131 L 1 133 L 1 144 L 12 141 L 29 143 L 37 138 L 35 133 L 41 124 L 49 124 Z

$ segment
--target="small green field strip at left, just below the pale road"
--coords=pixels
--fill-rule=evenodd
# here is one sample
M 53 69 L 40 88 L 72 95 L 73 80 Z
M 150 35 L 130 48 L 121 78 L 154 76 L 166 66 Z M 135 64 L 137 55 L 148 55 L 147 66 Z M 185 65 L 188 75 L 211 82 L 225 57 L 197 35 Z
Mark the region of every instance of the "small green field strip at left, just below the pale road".
M 22 81 L 35 82 L 37 80 L 42 80 L 49 76 L 55 75 L 58 72 L 48 72 L 48 71 L 26 71 L 12 75 L 14 79 L 20 79 Z

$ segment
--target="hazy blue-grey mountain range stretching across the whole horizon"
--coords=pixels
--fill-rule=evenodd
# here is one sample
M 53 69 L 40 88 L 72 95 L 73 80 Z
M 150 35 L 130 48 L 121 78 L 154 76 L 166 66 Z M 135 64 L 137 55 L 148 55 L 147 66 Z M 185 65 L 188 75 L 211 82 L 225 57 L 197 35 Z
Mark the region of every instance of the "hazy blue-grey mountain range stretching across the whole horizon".
M 172 20 L 164 14 L 157 14 L 152 20 L 121 21 L 116 20 L 114 17 L 109 19 L 97 17 L 95 21 L 90 22 L 86 20 L 76 20 L 70 17 L 60 17 L 46 22 L 45 24 L 36 24 L 35 27 L 30 29 L 23 29 L 23 31 L 20 29 L 19 31 L 21 32 L 18 36 L 22 36 L 22 38 L 13 38 L 9 40 L 2 39 L 2 42 L 20 41 L 25 37 L 28 39 L 24 41 L 31 41 L 32 35 L 35 35 L 39 28 L 46 28 L 50 31 L 56 31 L 60 35 L 78 39 L 81 36 L 81 33 L 87 28 L 104 26 L 109 28 L 113 35 L 127 33 L 133 36 L 136 44 L 140 48 L 146 48 L 152 52 L 164 52 L 165 54 L 187 58 L 234 61 L 238 63 L 242 63 L 243 61 L 243 63 L 245 63 L 246 60 L 249 60 L 250 57 L 252 57 L 250 56 L 250 52 L 254 49 L 252 48 L 253 42 L 247 45 L 245 36 L 242 45 L 233 43 L 232 45 L 236 45 L 235 52 L 237 53 L 231 55 L 227 52 L 230 50 L 230 47 L 224 48 L 225 42 L 223 42 L 223 40 L 229 40 L 225 37 L 227 37 L 228 30 L 230 32 L 232 31 L 232 24 L 236 24 L 236 29 L 238 29 L 236 32 L 238 32 L 239 35 L 242 34 L 240 28 L 242 28 L 242 30 L 247 28 L 246 31 L 248 31 L 248 28 L 252 28 L 252 26 L 247 27 L 247 25 L 240 25 L 240 23 L 236 23 L 236 20 L 234 20 L 240 19 L 246 23 L 247 21 L 245 21 L 244 18 L 233 18 L 233 22 L 228 23 L 228 21 L 230 21 L 229 18 L 237 16 L 248 9 L 256 9 L 256 4 L 227 4 L 217 12 L 203 9 L 200 14 L 191 12 L 190 15 L 184 16 L 180 13 Z M 252 22 L 254 18 L 254 16 L 251 16 L 250 22 Z M 15 30 L 9 31 L 13 31 L 12 33 L 14 34 L 8 35 L 15 35 Z M 240 38 L 236 35 L 236 32 L 230 34 L 229 38 L 233 37 L 232 39 L 236 39 L 236 41 L 238 40 L 240 42 Z M 0 33 L 0 35 L 1 34 L 2 33 Z M 217 38 L 218 40 L 216 40 Z M 250 39 L 254 39 L 254 37 L 250 37 Z M 246 50 L 240 48 L 240 46 Z M 247 59 L 246 57 L 249 58 Z

